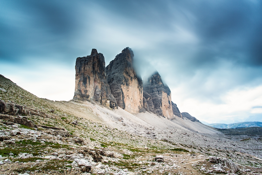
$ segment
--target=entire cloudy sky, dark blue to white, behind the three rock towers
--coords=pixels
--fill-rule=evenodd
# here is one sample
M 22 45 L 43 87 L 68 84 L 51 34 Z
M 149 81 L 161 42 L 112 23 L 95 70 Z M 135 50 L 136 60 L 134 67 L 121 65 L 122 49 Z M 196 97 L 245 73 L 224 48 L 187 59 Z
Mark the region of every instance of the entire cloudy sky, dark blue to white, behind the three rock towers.
M 0 74 L 40 98 L 72 99 L 77 57 L 126 47 L 181 112 L 262 122 L 260 0 L 0 0 Z

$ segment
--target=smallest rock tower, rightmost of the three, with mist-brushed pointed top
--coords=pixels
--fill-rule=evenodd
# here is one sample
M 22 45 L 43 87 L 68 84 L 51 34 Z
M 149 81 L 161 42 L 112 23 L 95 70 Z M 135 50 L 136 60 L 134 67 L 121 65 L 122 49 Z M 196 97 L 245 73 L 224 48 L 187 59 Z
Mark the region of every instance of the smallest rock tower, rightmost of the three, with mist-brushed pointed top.
M 143 82 L 143 91 L 149 109 L 154 109 L 151 112 L 167 118 L 173 118 L 171 91 L 167 85 L 164 85 L 158 72 L 153 73 L 151 77 Z M 153 105 L 151 105 L 151 100 Z

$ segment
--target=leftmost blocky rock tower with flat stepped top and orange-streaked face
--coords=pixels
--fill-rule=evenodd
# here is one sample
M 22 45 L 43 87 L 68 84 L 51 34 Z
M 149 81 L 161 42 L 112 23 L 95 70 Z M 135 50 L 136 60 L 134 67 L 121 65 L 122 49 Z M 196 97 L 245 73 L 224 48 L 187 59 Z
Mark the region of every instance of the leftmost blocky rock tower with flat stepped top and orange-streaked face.
M 105 58 L 96 49 L 92 49 L 90 56 L 76 59 L 73 99 L 95 101 L 112 109 L 117 108 L 105 76 Z

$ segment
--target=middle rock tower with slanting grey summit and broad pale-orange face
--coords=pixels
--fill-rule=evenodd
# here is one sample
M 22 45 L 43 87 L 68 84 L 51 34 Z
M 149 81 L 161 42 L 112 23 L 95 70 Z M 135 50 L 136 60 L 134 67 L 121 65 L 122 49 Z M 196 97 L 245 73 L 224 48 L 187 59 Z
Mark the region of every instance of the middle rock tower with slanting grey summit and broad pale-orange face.
M 107 82 L 117 104 L 130 113 L 144 112 L 143 83 L 133 68 L 133 51 L 126 48 L 106 67 Z

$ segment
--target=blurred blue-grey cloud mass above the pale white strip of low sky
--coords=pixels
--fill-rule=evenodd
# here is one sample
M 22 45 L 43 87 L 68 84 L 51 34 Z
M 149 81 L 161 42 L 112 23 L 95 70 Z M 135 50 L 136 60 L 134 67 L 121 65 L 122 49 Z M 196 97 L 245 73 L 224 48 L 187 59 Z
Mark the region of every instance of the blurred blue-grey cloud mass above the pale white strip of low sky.
M 142 76 L 157 69 L 189 96 L 262 79 L 262 1 L 0 1 L 0 11 L 3 62 L 73 65 L 96 48 L 108 64 L 131 47 Z

